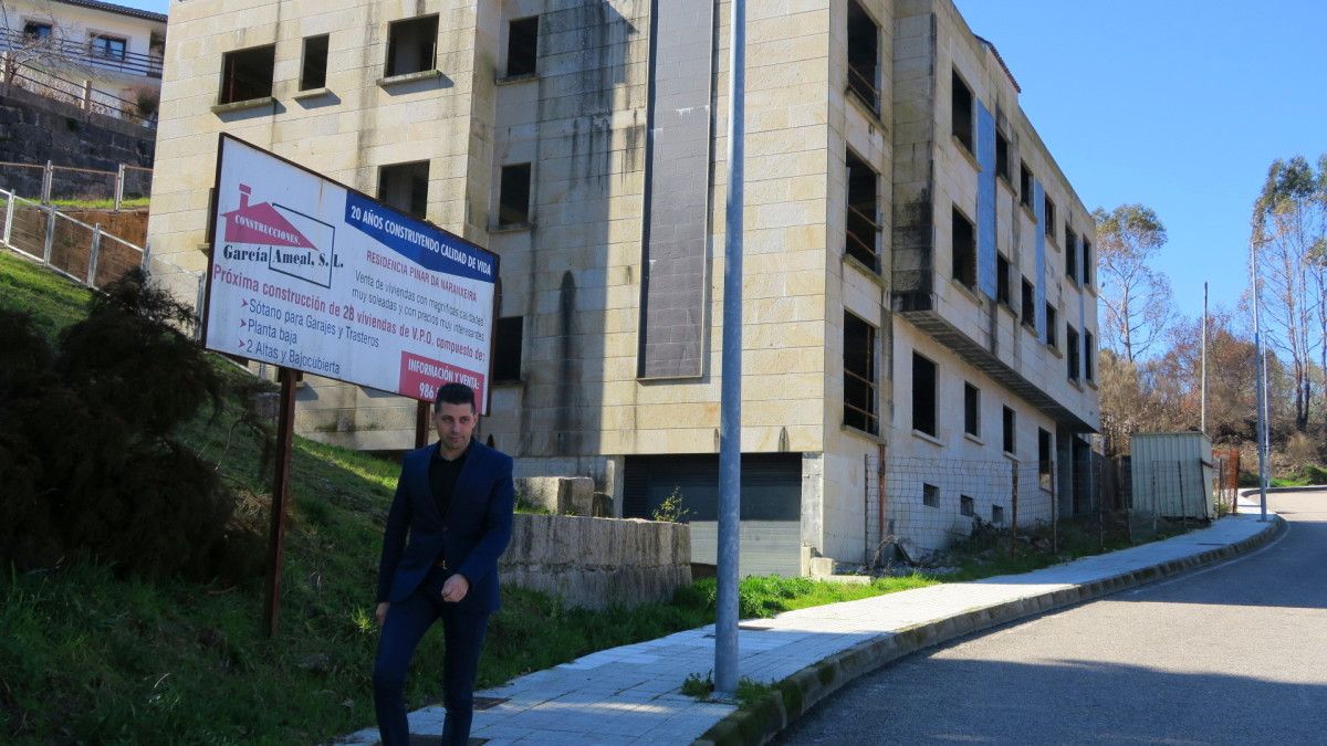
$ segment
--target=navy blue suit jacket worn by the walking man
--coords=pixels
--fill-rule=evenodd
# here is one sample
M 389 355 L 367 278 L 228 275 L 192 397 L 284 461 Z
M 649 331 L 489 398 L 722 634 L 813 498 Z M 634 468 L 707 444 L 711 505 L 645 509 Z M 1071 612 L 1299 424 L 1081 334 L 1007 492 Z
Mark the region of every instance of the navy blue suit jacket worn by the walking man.
M 406 453 L 387 512 L 378 564 L 378 601 L 410 597 L 438 560 L 470 581 L 458 612 L 498 611 L 498 558 L 511 542 L 515 492 L 511 457 L 470 442 L 456 475 L 447 515 L 438 512 L 429 486 L 429 459 L 438 445 Z

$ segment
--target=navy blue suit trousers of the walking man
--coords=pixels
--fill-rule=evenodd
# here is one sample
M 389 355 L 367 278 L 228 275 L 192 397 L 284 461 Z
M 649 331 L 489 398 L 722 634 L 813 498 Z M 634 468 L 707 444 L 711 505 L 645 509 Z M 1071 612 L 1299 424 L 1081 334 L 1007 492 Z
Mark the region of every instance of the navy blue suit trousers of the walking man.
M 425 632 L 442 619 L 446 652 L 442 662 L 443 746 L 464 746 L 474 718 L 475 673 L 488 628 L 487 613 L 462 613 L 442 600 L 442 584 L 449 573 L 434 569 L 405 601 L 387 608 L 373 662 L 373 702 L 378 714 L 382 746 L 407 746 L 405 684 L 410 658 Z

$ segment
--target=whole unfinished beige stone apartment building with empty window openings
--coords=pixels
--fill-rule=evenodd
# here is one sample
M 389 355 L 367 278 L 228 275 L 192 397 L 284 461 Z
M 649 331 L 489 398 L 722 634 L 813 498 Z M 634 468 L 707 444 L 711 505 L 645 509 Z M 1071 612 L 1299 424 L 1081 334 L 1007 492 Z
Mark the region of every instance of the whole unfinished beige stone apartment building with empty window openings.
M 742 572 L 1087 510 L 1093 222 L 1018 82 L 951 0 L 794 5 L 747 8 Z M 153 256 L 207 267 L 220 131 L 495 251 L 483 437 L 626 516 L 681 494 L 713 561 L 726 24 L 713 0 L 179 3 Z M 307 376 L 296 419 L 401 450 L 414 413 Z

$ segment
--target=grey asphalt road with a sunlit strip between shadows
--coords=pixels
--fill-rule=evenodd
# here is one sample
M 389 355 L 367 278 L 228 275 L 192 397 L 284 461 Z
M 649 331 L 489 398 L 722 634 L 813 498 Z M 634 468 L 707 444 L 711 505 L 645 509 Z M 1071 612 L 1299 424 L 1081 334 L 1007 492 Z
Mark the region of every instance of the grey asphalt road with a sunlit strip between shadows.
M 1257 552 L 904 658 L 776 743 L 1327 745 L 1327 492 Z

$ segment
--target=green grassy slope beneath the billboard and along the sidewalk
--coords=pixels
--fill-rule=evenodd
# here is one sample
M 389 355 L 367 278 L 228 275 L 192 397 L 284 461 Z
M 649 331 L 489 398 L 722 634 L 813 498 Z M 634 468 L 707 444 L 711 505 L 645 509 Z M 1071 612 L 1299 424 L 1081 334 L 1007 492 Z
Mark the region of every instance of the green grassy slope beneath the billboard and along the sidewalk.
M 81 316 L 86 297 L 0 251 L 0 307 L 33 312 L 52 337 Z M 232 427 L 236 418 L 234 406 L 208 413 L 180 437 L 218 465 L 239 495 L 239 519 L 265 535 L 268 470 L 261 443 Z M 281 634 L 273 641 L 257 633 L 259 579 L 238 587 L 146 583 L 85 561 L 0 572 L 0 741 L 307 743 L 373 723 L 370 613 L 395 473 L 391 462 L 296 439 Z M 772 616 L 929 583 L 750 579 L 743 609 Z M 592 613 L 506 588 L 479 685 L 706 624 L 713 596 L 713 581 L 698 581 L 674 604 Z M 441 654 L 441 634 L 433 634 L 417 660 Z M 413 706 L 439 697 L 437 677 L 413 678 Z

